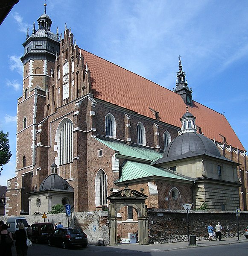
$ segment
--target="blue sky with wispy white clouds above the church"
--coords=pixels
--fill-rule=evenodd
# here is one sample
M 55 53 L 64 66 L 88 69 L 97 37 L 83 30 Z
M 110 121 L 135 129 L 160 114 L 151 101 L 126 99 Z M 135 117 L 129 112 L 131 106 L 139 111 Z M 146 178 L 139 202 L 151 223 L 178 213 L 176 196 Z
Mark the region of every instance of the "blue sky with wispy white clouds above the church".
M 47 0 L 54 33 L 66 23 L 80 48 L 170 90 L 180 54 L 193 100 L 224 111 L 246 150 L 247 12 L 247 0 Z M 20 0 L 0 26 L 0 129 L 9 132 L 12 151 L 0 185 L 15 177 L 22 44 L 42 13 L 44 0 Z

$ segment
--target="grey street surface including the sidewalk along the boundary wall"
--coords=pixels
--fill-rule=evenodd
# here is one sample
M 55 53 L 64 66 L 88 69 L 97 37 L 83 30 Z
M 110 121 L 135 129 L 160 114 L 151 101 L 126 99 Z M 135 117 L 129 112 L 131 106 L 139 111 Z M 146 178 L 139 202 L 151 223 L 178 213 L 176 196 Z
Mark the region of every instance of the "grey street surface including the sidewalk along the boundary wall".
M 60 247 L 48 247 L 47 244 L 33 244 L 29 247 L 28 256 L 193 256 L 193 255 L 218 255 L 233 256 L 246 255 L 248 251 L 248 239 L 244 236 L 239 238 L 224 238 L 223 241 L 197 241 L 197 245 L 188 245 L 188 242 L 171 244 L 119 244 L 118 246 L 94 246 L 87 248 L 73 247 L 72 249 L 62 249 Z M 13 247 L 13 256 L 16 256 Z

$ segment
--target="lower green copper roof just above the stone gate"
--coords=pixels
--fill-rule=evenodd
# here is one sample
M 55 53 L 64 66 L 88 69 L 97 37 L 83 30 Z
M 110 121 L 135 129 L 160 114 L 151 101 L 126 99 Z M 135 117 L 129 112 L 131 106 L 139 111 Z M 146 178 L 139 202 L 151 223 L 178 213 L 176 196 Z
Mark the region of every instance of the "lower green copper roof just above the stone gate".
M 187 179 L 186 177 L 182 177 L 178 174 L 175 174 L 169 170 L 167 171 L 165 169 L 157 168 L 152 165 L 127 161 L 122 168 L 122 176 L 115 182 L 123 182 L 126 180 L 140 179 L 152 176 L 165 177 L 171 179 L 191 180 Z

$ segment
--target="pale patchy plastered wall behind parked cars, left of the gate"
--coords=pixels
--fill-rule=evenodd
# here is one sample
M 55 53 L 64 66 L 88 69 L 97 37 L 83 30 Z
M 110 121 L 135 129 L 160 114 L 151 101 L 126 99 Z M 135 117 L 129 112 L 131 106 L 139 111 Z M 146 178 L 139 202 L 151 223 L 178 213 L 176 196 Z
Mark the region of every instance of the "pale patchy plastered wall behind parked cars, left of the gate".
M 28 224 L 44 222 L 42 215 L 23 215 L 17 217 L 25 217 Z M 4 223 L 9 216 L 1 217 Z M 52 222 L 68 227 L 68 221 L 65 213 L 47 214 L 45 222 Z M 69 217 L 69 227 L 81 227 L 87 234 L 88 244 L 109 244 L 109 227 L 108 227 L 108 212 L 107 211 L 93 211 L 93 212 L 72 212 Z

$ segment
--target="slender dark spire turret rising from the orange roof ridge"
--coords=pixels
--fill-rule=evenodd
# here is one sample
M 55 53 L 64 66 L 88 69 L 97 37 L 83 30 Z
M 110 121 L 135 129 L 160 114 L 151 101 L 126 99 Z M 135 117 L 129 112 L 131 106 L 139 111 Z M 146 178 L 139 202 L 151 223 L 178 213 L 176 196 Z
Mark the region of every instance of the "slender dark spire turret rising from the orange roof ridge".
M 188 82 L 186 80 L 186 74 L 183 71 L 181 56 L 179 56 L 179 71 L 177 72 L 176 88 L 175 92 L 181 95 L 184 103 L 188 106 L 193 106 L 192 104 L 192 90 L 188 87 Z

